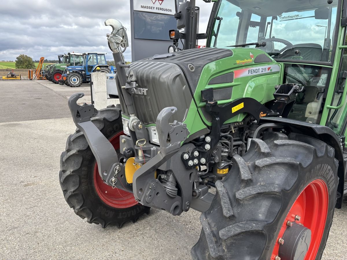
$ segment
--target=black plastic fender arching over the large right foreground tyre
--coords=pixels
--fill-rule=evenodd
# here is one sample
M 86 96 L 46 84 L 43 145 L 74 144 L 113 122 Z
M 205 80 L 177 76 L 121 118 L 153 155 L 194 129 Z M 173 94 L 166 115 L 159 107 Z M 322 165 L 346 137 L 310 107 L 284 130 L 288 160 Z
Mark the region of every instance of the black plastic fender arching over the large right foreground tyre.
M 338 136 L 336 135 L 336 133 L 333 130 L 331 130 L 329 127 L 326 127 L 325 125 L 312 124 L 312 123 L 297 121 L 297 120 L 288 119 L 288 118 L 264 117 L 260 119 L 259 123 L 260 124 L 265 124 L 265 123 L 281 124 L 281 128 L 284 128 L 286 131 L 288 131 L 288 133 L 289 132 L 302 133 L 304 135 L 314 137 L 316 139 L 319 139 L 325 142 L 326 144 L 330 145 L 331 147 L 335 149 L 335 158 L 338 159 L 339 161 L 339 168 L 337 173 L 339 177 L 339 184 L 337 188 L 338 194 L 337 194 L 335 207 L 341 208 L 343 194 L 344 194 L 345 165 L 344 165 L 344 157 L 343 157 L 341 142 Z M 262 128 L 262 125 L 259 128 Z

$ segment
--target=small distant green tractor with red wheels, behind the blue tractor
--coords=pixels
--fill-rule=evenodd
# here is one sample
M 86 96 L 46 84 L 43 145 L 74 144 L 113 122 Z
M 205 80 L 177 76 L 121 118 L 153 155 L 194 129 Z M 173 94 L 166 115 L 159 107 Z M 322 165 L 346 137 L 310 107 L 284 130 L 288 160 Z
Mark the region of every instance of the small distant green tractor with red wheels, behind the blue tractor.
M 46 78 L 48 76 L 48 80 L 58 84 L 65 68 L 68 66 L 80 66 L 83 63 L 83 57 L 82 53 L 74 52 L 58 55 L 59 63 L 50 64 L 48 65 L 49 68 L 46 67 Z

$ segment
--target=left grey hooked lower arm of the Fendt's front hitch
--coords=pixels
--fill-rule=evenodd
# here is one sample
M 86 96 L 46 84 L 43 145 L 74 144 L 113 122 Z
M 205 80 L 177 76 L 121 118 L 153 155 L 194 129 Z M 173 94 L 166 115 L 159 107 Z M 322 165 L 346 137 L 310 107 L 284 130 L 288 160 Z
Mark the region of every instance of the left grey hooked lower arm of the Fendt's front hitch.
M 94 105 L 84 103 L 82 106 L 77 104 L 78 99 L 82 98 L 84 93 L 73 94 L 68 101 L 69 109 L 76 127 L 84 133 L 85 138 L 91 148 L 101 179 L 108 185 L 116 186 L 124 190 L 124 187 L 118 187 L 117 173 L 122 171 L 122 164 L 118 161 L 115 148 L 109 140 L 100 132 L 100 130 L 91 121 L 99 111 Z M 126 189 L 125 189 L 126 190 Z

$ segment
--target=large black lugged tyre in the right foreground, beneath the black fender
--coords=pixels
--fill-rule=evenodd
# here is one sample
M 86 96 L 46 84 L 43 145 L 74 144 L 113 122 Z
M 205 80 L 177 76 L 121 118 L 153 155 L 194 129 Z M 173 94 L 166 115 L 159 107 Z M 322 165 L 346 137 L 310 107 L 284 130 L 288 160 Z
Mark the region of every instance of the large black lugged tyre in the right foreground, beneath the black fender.
M 312 229 L 307 259 L 321 259 L 336 203 L 338 161 L 334 155 L 332 147 L 305 135 L 291 133 L 287 137 L 269 132 L 264 141 L 253 139 L 243 157 L 234 156 L 233 167 L 225 179 L 216 182 L 217 193 L 211 207 L 200 217 L 203 228 L 191 251 L 193 259 L 273 260 L 277 254 L 291 259 L 288 254 L 283 255 L 283 246 L 288 247 L 291 241 L 280 245 L 279 235 L 293 230 L 286 225 L 288 216 L 297 214 L 293 205 L 303 191 L 305 202 L 314 198 L 307 188 L 315 183 L 325 187 L 326 199 L 310 205 L 320 209 L 325 202 L 327 214 L 323 210 L 317 214 L 318 219 L 323 216 L 325 223 L 316 221 L 324 229 L 315 228 L 317 224 L 310 226 L 314 220 L 308 217 L 308 209 L 302 212 L 301 221 Z M 301 223 L 294 217 L 293 222 Z

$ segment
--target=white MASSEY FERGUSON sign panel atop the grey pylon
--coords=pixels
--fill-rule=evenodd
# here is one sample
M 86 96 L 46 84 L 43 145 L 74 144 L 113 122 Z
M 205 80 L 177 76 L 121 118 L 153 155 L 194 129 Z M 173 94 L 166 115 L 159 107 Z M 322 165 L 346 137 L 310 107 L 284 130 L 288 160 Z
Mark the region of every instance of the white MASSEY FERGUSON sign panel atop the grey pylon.
M 174 15 L 176 0 L 134 0 L 134 11 Z

